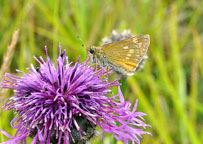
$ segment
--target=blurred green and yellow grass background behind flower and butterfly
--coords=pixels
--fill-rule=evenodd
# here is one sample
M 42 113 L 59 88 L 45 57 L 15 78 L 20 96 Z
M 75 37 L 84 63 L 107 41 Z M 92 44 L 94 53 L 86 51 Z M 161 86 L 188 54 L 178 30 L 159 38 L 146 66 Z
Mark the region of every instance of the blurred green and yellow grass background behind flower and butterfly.
M 9 51 L 16 28 L 18 42 Z M 202 0 L 0 0 L 0 78 L 5 71 L 16 74 L 16 69 L 37 65 L 33 56 L 45 58 L 44 45 L 55 63 L 59 42 L 71 61 L 78 56 L 84 61 L 87 52 L 77 36 L 87 46 L 98 46 L 112 30 L 125 29 L 151 37 L 144 69 L 123 83 L 125 99 L 138 99 L 138 111 L 152 125 L 147 129 L 152 136 L 144 135 L 141 143 L 203 143 Z M 1 90 L 1 101 L 12 94 Z M 1 107 L 0 129 L 12 136 L 13 117 Z M 6 140 L 0 133 L 0 142 Z M 100 141 L 98 136 L 91 143 Z M 111 134 L 102 141 L 122 144 Z

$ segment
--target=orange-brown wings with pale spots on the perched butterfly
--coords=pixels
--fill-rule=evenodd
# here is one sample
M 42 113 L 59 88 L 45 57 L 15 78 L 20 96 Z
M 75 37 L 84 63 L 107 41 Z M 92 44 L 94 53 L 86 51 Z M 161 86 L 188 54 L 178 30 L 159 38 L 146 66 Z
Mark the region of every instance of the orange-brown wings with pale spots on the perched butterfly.
M 140 35 L 102 47 L 108 60 L 126 72 L 134 72 L 145 56 L 150 43 L 149 35 Z

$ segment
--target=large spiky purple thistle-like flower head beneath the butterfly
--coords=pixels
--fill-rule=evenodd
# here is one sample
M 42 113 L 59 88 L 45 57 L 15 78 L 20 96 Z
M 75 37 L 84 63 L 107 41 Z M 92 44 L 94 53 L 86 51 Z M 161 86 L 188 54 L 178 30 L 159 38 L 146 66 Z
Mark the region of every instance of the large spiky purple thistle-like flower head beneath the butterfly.
M 88 60 L 74 66 L 68 62 L 66 51 L 57 59 L 57 68 L 50 61 L 47 48 L 47 61 L 42 57 L 35 60 L 39 67 L 31 65 L 23 76 L 6 74 L 1 87 L 13 89 L 15 94 L 5 104 L 6 110 L 14 110 L 15 118 L 11 126 L 17 129 L 14 137 L 3 130 L 10 138 L 5 143 L 26 143 L 26 137 L 32 137 L 33 144 L 72 143 L 88 135 L 88 127 L 98 125 L 103 132 L 112 133 L 117 140 L 140 143 L 142 134 L 150 134 L 141 127 L 149 126 L 142 120 L 145 114 L 136 112 L 137 101 L 132 111 L 131 103 L 124 101 L 118 80 L 108 82 L 103 69 L 97 71 Z M 118 87 L 118 94 L 113 95 L 109 87 Z M 112 97 L 107 97 L 111 94 Z M 83 122 L 81 122 L 83 121 Z M 85 123 L 85 124 L 84 124 Z M 83 128 L 86 125 L 86 128 Z

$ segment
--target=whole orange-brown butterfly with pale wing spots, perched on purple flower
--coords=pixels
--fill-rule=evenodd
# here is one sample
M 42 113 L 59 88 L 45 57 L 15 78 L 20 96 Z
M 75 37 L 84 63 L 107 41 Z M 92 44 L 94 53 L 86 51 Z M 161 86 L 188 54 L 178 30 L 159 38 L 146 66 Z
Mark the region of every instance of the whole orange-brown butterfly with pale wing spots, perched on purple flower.
M 89 54 L 93 64 L 130 76 L 144 61 L 149 45 L 149 35 L 138 35 L 101 47 L 92 46 Z

